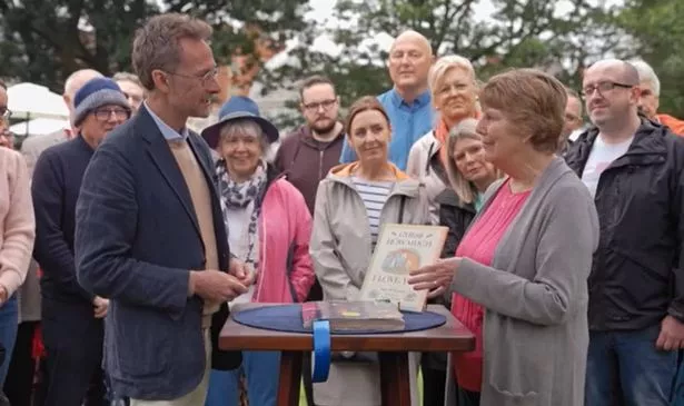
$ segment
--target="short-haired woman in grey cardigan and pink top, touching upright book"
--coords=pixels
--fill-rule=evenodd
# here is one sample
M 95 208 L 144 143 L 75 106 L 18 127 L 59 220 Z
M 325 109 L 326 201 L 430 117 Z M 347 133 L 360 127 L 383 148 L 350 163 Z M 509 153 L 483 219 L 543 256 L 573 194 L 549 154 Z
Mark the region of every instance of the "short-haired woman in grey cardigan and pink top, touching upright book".
M 555 155 L 566 99 L 561 82 L 532 69 L 487 82 L 477 132 L 506 177 L 487 190 L 456 255 L 409 279 L 485 308 L 484 367 L 470 370 L 482 375 L 482 405 L 584 404 L 598 220 L 587 188 Z

